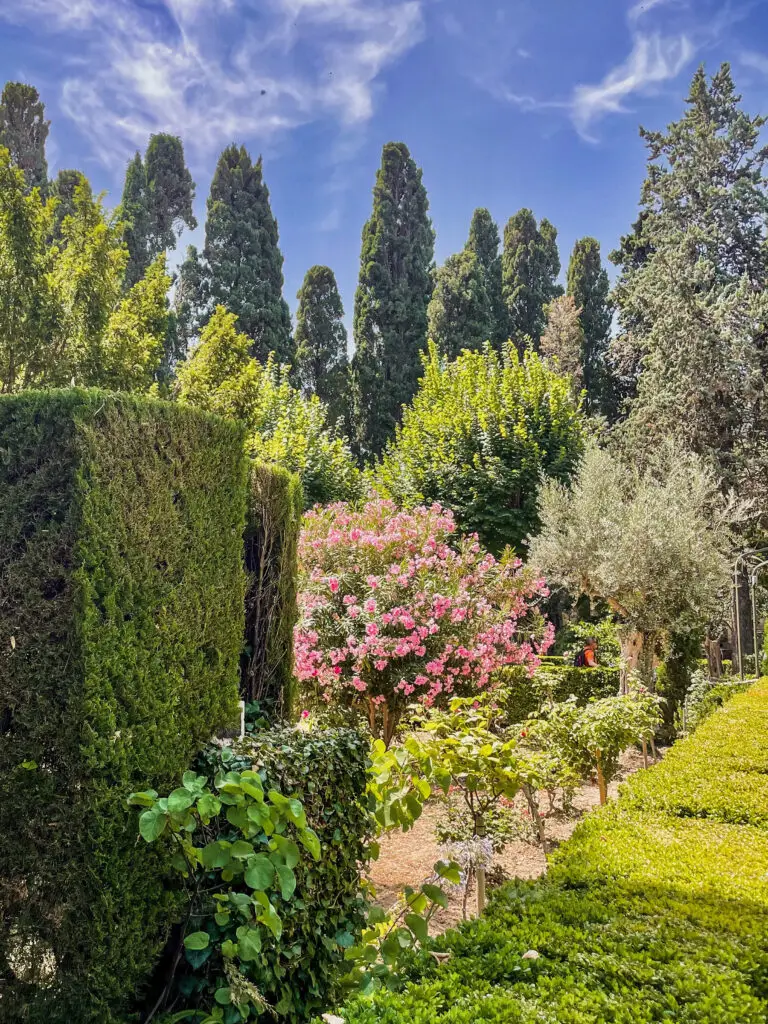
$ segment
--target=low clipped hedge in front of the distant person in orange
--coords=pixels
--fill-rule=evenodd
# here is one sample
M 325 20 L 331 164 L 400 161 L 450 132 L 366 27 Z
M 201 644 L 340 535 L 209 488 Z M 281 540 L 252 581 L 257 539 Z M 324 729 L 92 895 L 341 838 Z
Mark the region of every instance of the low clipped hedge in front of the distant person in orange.
M 586 703 L 591 697 L 612 697 L 618 692 L 618 669 L 577 669 L 572 666 L 543 664 L 531 679 L 527 671 L 502 669 L 494 677 L 496 697 L 508 722 L 523 722 L 537 714 L 547 700 L 577 697 Z

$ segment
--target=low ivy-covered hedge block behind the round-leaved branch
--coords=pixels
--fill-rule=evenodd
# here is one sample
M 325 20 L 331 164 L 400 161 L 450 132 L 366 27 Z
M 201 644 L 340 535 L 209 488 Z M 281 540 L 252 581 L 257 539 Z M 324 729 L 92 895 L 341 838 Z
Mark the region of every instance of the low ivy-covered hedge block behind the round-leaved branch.
M 272 1011 L 279 1020 L 304 1021 L 325 1008 L 334 981 L 344 971 L 345 950 L 357 941 L 365 923 L 367 904 L 359 865 L 367 859 L 373 828 L 366 799 L 368 766 L 369 742 L 349 729 L 274 729 L 247 737 L 232 748 L 206 749 L 197 767 L 209 787 L 215 786 L 222 773 L 255 770 L 261 779 L 256 784 L 269 795 L 270 801 L 278 799 L 272 791 L 299 801 L 306 824 L 319 839 L 319 859 L 308 848 L 299 848 L 287 860 L 283 858 L 293 879 L 289 880 L 289 888 L 269 892 L 272 910 L 267 911 L 265 927 L 258 928 L 258 955 L 247 953 L 234 971 L 234 957 L 243 961 L 237 946 L 238 930 L 244 927 L 244 921 L 238 913 L 222 918 L 222 908 L 217 905 L 220 901 L 215 902 L 213 894 L 229 893 L 228 901 L 236 908 L 247 907 L 255 895 L 251 883 L 263 880 L 249 877 L 242 869 L 223 876 L 211 871 L 204 872 L 202 894 L 189 886 L 193 915 L 187 935 L 205 932 L 210 939 L 200 950 L 184 951 L 179 976 L 166 993 L 167 1005 L 181 1001 L 191 1008 L 210 1007 L 218 989 L 231 988 L 224 979 L 231 981 L 237 974 L 244 991 L 250 986 L 250 1001 L 255 1008 L 259 1002 L 253 992 L 260 993 L 264 1021 L 273 1020 Z M 193 836 L 196 846 L 211 842 L 225 845 L 244 838 L 242 822 L 232 817 L 230 808 L 213 810 L 205 828 Z M 257 844 L 258 837 L 254 835 L 249 842 Z M 248 852 L 245 847 L 239 849 Z M 177 943 L 182 938 L 177 936 Z M 233 1021 L 262 1019 L 258 1010 L 254 1016 L 240 1015 L 234 1006 L 229 1010 Z

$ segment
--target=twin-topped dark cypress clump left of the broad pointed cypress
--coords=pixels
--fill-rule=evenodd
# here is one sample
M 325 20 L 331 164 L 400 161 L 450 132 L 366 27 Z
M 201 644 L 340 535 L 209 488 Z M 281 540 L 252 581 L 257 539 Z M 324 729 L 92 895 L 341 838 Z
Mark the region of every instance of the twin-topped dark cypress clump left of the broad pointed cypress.
M 161 253 L 176 248 L 184 224 L 198 226 L 194 200 L 195 182 L 184 163 L 181 139 L 153 135 L 144 159 L 136 153 L 128 164 L 120 204 L 128 246 L 126 288 L 140 281 Z

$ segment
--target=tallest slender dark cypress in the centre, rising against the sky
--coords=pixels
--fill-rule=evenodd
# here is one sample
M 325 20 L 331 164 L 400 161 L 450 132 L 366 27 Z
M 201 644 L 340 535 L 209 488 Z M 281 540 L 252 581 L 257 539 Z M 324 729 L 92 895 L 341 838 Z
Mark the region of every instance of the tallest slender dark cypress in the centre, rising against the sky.
M 377 455 L 394 433 L 421 373 L 432 292 L 434 231 L 422 172 L 402 142 L 388 142 L 362 229 L 354 297 L 355 444 Z

